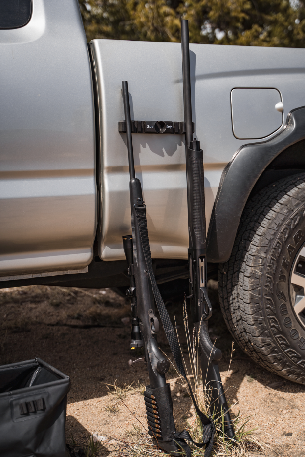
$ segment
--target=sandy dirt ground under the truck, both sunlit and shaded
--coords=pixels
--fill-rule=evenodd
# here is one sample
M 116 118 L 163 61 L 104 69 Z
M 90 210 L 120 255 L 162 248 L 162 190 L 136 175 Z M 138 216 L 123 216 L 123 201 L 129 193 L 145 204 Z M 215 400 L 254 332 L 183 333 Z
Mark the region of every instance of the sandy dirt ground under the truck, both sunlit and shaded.
M 223 353 L 220 371 L 233 412 L 251 416 L 248 429 L 256 429 L 255 436 L 267 444 L 260 455 L 305 456 L 305 386 L 263 370 L 236 345 L 228 372 L 232 336 L 219 309 L 217 283 L 209 285 L 214 309 L 210 334 Z M 183 299 L 169 300 L 166 305 L 172 319 L 176 316 L 186 355 Z M 143 363 L 129 367 L 129 358 L 142 356 L 140 350 L 130 350 L 129 340 L 129 299 L 111 289 L 27 286 L 0 290 L 0 365 L 40 357 L 71 377 L 66 423 L 70 444 L 83 445 L 92 433 L 120 439 L 133 425 L 141 427 L 139 421 L 145 425 L 142 392 L 149 380 Z M 163 331 L 158 340 L 169 354 Z M 185 418 L 192 418 L 193 407 L 173 368 L 168 380 L 179 428 Z M 108 395 L 107 384 L 123 388 L 131 383 L 123 394 L 126 406 Z M 99 455 L 113 455 L 112 443 L 103 444 Z

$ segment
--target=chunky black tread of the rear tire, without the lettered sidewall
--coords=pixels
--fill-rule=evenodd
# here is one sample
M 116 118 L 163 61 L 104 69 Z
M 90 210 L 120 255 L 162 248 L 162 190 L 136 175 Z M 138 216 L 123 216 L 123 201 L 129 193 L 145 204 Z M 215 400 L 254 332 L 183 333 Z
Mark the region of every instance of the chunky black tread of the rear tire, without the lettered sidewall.
M 262 367 L 294 381 L 305 379 L 305 370 L 295 364 L 291 377 L 275 354 L 277 342 L 262 315 L 262 277 L 274 240 L 304 202 L 305 173 L 283 178 L 255 195 L 244 208 L 231 257 L 218 270 L 221 310 L 240 348 Z

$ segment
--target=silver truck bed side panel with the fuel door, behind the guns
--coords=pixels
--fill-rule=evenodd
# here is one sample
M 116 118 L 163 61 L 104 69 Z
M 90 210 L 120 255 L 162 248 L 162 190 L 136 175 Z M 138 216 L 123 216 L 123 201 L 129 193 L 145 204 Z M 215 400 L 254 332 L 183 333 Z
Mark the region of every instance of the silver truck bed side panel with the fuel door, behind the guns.
M 128 80 L 131 119 L 183 121 L 181 45 L 93 40 L 92 49 L 101 129 L 100 256 L 103 260 L 123 259 L 122 235 L 131 233 L 131 219 L 126 138 L 118 132 L 118 121 L 124 119 L 122 80 Z M 191 44 L 190 50 L 194 137 L 201 141 L 204 152 L 208 228 L 222 171 L 235 152 L 251 141 L 277 135 L 288 112 L 305 105 L 305 50 L 205 44 Z M 270 135 L 260 138 L 264 123 L 260 122 L 256 135 L 252 125 L 243 125 L 243 112 L 235 112 L 236 129 L 245 135 L 244 139 L 237 138 L 240 133 L 234 135 L 231 93 L 235 88 L 260 89 L 257 99 L 261 97 L 261 116 L 266 116 L 266 124 L 267 101 L 283 101 L 282 118 L 275 106 L 267 106 L 274 110 L 276 131 L 270 122 Z M 266 92 L 268 100 L 262 88 L 272 89 Z M 241 104 L 246 115 L 256 97 L 248 90 L 237 94 L 241 94 L 241 101 L 239 98 L 237 104 L 235 97 L 235 106 Z M 243 96 L 250 99 L 242 106 Z M 248 131 L 254 138 L 247 137 Z M 133 134 L 133 147 L 136 176 L 147 204 L 152 257 L 187 258 L 184 135 Z

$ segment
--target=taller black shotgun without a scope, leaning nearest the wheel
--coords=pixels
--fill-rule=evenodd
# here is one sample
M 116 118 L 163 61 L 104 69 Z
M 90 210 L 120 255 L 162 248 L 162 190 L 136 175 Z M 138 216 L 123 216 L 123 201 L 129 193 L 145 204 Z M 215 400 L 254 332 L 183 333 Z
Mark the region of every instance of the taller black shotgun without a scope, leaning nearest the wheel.
M 189 24 L 185 19 L 181 21 L 181 47 L 189 227 L 188 298 L 200 342 L 202 379 L 205 379 L 205 389 L 211 392 L 210 413 L 223 420 L 225 435 L 232 439 L 235 434 L 219 374 L 219 360 L 222 354 L 212 344 L 208 333 L 208 319 L 212 315 L 212 307 L 207 292 L 203 151 L 200 141 L 193 140 Z

